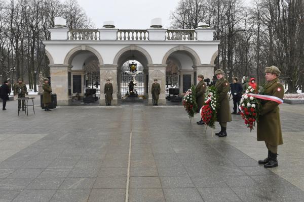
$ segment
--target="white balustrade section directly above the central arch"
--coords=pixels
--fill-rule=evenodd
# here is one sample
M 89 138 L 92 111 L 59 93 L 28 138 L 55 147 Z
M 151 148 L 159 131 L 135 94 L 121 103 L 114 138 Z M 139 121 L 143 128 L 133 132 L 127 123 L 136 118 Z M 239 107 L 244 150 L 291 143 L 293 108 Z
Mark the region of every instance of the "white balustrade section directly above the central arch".
M 148 40 L 148 32 L 146 29 L 120 29 L 117 40 Z

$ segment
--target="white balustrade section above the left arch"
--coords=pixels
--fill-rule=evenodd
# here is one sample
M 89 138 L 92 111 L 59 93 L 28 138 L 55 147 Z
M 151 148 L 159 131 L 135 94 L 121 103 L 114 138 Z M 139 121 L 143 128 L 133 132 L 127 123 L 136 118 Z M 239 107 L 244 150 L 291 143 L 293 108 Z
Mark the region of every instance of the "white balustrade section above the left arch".
M 67 40 L 99 40 L 97 29 L 69 29 Z

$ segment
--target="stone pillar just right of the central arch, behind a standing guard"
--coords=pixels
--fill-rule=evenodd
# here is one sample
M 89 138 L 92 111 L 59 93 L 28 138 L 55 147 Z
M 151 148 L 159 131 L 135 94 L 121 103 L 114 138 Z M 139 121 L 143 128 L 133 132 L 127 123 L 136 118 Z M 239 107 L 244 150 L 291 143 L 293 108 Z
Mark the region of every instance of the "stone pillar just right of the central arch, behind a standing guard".
M 158 105 L 167 105 L 166 104 L 166 67 L 167 65 L 148 65 L 149 68 L 149 99 L 148 105 L 153 105 L 151 87 L 154 83 L 154 79 L 158 79 L 158 83 L 161 86 L 161 94 L 159 95 Z

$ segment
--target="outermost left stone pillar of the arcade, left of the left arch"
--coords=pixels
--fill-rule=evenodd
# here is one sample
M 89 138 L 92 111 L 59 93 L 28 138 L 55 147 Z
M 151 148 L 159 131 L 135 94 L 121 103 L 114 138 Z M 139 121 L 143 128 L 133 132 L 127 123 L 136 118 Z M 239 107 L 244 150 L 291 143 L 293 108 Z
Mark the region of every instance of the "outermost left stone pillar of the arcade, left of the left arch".
M 57 105 L 67 106 L 71 99 L 68 95 L 68 72 L 71 72 L 70 65 L 49 65 L 51 72 L 52 93 L 57 94 Z

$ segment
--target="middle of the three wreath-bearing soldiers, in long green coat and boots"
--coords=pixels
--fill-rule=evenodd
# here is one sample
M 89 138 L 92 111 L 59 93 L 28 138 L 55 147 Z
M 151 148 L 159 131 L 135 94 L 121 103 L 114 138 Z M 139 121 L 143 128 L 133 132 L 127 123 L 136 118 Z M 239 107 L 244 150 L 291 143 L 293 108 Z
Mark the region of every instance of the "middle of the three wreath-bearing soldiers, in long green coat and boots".
M 224 77 L 224 72 L 218 69 L 214 73 L 216 75 L 217 81 L 215 83 L 215 88 L 218 94 L 219 109 L 217 111 L 217 121 L 220 125 L 220 132 L 215 133 L 219 137 L 227 136 L 226 128 L 227 122 L 231 122 L 230 105 L 227 93 L 230 90 L 230 84 Z

